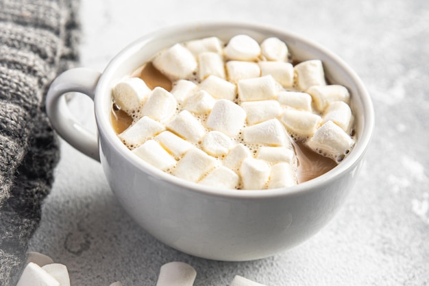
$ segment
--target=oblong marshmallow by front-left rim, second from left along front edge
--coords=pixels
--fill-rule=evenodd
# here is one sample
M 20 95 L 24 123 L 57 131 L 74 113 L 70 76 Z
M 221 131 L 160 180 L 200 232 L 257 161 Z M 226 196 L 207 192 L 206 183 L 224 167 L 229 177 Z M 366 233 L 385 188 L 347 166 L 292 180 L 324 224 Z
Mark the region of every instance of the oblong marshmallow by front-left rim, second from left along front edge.
M 145 160 L 150 165 L 165 171 L 171 169 L 177 163 L 175 158 L 169 154 L 155 140 L 148 140 L 136 149 L 132 150 L 134 154 Z

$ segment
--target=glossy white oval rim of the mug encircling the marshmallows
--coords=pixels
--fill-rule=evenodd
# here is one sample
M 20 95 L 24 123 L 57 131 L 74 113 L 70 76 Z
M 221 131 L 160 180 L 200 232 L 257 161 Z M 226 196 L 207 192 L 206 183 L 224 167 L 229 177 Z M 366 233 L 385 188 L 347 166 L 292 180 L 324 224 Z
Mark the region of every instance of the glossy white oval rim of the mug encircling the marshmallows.
M 254 31 L 263 30 L 270 32 L 270 34 L 282 34 L 289 38 L 295 38 L 295 40 L 298 40 L 308 46 L 319 50 L 321 53 L 326 54 L 326 56 L 332 59 L 337 65 L 339 65 L 339 67 L 347 71 L 348 75 L 350 76 L 350 78 L 352 78 L 354 84 L 356 84 L 356 87 L 360 91 L 359 99 L 363 106 L 363 131 L 361 134 L 359 134 L 358 140 L 356 140 L 356 144 L 354 145 L 352 152 L 350 152 L 350 154 L 347 155 L 346 158 L 341 163 L 339 163 L 339 165 L 326 172 L 325 174 L 318 176 L 317 178 L 313 178 L 306 182 L 301 182 L 292 187 L 256 190 L 221 189 L 219 187 L 206 186 L 204 184 L 187 181 L 182 178 L 175 177 L 171 174 L 167 174 L 166 172 L 157 169 L 154 166 L 151 166 L 149 163 L 145 162 L 135 154 L 132 154 L 132 152 L 130 152 L 130 150 L 121 142 L 121 140 L 117 137 L 117 134 L 114 132 L 111 126 L 109 116 L 110 113 L 106 114 L 107 110 L 106 108 L 104 108 L 104 106 L 106 105 L 106 100 L 108 99 L 105 98 L 106 96 L 103 96 L 105 95 L 103 91 L 105 91 L 106 88 L 110 88 L 111 78 L 115 73 L 115 70 L 118 69 L 124 62 L 125 58 L 130 58 L 130 56 L 138 52 L 140 47 L 145 45 L 145 43 L 149 43 L 151 40 L 154 39 L 159 39 L 180 32 L 184 33 L 192 31 L 195 32 L 204 29 L 225 28 L 248 29 Z M 143 64 L 143 62 L 140 64 Z M 121 156 L 123 156 L 127 160 L 127 163 L 134 165 L 134 167 L 144 171 L 150 176 L 154 176 L 160 180 L 163 180 L 164 182 L 168 182 L 169 184 L 175 184 L 177 186 L 180 186 L 182 189 L 184 188 L 188 191 L 206 193 L 225 198 L 260 199 L 280 197 L 284 195 L 299 195 L 303 193 L 317 191 L 317 189 L 319 189 L 320 187 L 330 184 L 332 180 L 336 180 L 337 177 L 346 174 L 349 170 L 354 169 L 355 165 L 363 159 L 363 156 L 367 151 L 367 147 L 371 141 L 374 128 L 374 110 L 371 97 L 356 72 L 351 67 L 349 67 L 349 65 L 342 58 L 337 56 L 335 53 L 333 53 L 326 47 L 323 47 L 323 45 L 316 43 L 308 38 L 305 38 L 304 36 L 301 36 L 299 34 L 295 34 L 288 29 L 281 29 L 279 27 L 274 27 L 263 23 L 250 23 L 243 21 L 199 21 L 197 23 L 182 23 L 181 25 L 164 27 L 137 38 L 132 43 L 127 45 L 124 49 L 122 49 L 119 53 L 117 53 L 117 56 L 114 56 L 114 58 L 112 58 L 112 60 L 106 66 L 106 69 L 103 71 L 103 73 L 101 73 L 101 77 L 99 78 L 99 82 L 95 89 L 94 103 L 95 117 L 97 121 L 99 136 L 103 136 L 105 141 L 112 145 L 112 147 L 114 147 L 117 152 L 121 153 Z

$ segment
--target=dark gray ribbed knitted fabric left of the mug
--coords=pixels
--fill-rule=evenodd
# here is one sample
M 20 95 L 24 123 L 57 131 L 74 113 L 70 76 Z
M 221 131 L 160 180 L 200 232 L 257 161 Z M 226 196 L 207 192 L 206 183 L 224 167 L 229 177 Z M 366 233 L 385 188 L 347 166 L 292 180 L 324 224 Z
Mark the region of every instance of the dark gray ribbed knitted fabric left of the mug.
M 44 108 L 77 60 L 78 0 L 0 0 L 0 285 L 15 285 L 58 162 Z

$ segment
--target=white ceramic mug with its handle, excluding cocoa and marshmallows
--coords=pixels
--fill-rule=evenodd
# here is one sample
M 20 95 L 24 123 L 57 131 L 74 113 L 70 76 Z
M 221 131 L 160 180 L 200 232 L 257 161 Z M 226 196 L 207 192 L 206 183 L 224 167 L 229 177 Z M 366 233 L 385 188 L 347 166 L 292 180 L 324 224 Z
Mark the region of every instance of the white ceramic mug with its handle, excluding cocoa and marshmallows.
M 110 123 L 111 88 L 157 51 L 186 40 L 248 34 L 284 40 L 295 60 L 320 59 L 332 84 L 352 94 L 356 145 L 337 167 L 289 189 L 227 190 L 187 182 L 155 169 L 121 143 Z M 67 109 L 64 94 L 94 100 L 98 136 L 86 132 Z M 373 132 L 373 106 L 356 73 L 325 48 L 282 29 L 249 23 L 193 23 L 160 29 L 119 53 L 103 73 L 77 68 L 51 84 L 47 113 L 53 128 L 77 150 L 101 161 L 127 213 L 167 245 L 206 259 L 247 261 L 269 257 L 308 239 L 334 216 L 363 163 Z

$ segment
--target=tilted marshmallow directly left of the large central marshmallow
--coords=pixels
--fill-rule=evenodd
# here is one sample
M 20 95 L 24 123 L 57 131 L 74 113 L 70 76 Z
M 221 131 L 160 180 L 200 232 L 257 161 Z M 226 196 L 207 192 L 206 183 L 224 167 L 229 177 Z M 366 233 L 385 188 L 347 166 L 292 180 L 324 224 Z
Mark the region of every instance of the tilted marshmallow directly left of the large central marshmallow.
M 182 110 L 167 124 L 167 129 L 192 143 L 198 143 L 206 134 L 204 126 L 188 110 Z

